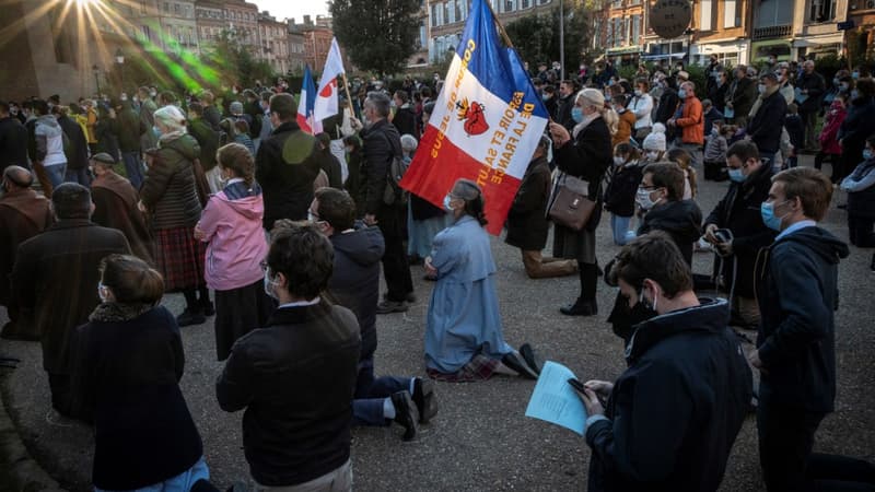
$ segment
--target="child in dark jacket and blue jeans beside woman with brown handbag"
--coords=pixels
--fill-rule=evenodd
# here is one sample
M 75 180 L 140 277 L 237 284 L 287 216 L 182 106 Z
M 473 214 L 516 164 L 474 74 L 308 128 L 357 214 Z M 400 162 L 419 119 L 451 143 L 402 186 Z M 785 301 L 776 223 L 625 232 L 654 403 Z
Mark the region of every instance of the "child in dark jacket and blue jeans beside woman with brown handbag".
M 641 183 L 641 153 L 630 143 L 614 148 L 614 173 L 605 189 L 605 210 L 610 212 L 614 244 L 623 246 L 635 211 L 635 192 Z

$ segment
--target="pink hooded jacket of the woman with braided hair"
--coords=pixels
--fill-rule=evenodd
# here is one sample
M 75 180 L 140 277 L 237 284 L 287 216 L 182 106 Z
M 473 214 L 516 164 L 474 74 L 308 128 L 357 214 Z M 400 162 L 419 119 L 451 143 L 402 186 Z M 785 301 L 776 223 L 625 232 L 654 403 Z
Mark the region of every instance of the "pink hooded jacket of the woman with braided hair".
M 203 279 L 217 291 L 230 291 L 264 279 L 267 241 L 261 231 L 265 201 L 258 183 L 230 183 L 210 197 L 198 229 L 207 246 Z

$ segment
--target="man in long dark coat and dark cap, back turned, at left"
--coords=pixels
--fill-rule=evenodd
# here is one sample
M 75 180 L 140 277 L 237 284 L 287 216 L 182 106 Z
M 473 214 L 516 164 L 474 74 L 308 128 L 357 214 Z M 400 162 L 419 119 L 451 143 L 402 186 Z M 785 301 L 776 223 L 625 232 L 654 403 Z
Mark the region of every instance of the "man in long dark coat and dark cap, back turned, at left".
M 120 232 L 91 222 L 94 204 L 82 185 L 55 188 L 51 210 L 57 222 L 19 246 L 10 278 L 20 323 L 42 337 L 51 406 L 69 415 L 72 333 L 97 305 L 101 260 L 130 247 Z

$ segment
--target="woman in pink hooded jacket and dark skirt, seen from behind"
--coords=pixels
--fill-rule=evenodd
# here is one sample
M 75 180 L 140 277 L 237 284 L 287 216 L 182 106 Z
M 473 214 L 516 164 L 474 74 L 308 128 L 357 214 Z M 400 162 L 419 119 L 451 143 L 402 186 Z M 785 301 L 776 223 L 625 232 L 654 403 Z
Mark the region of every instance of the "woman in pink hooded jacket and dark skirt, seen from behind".
M 217 161 L 223 189 L 210 197 L 195 238 L 209 243 L 203 277 L 215 291 L 215 352 L 224 361 L 234 341 L 264 326 L 275 306 L 264 288 L 268 246 L 255 161 L 240 143 L 219 149 Z

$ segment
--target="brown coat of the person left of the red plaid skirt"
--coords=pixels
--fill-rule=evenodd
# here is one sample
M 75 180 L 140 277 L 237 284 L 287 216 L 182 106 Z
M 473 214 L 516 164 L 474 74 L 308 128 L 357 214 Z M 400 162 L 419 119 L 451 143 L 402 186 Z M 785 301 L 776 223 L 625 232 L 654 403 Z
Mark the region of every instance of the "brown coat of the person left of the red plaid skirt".
M 97 225 L 121 231 L 131 251 L 152 263 L 152 234 L 145 216 L 137 208 L 139 196 L 130 181 L 110 171 L 91 185 L 91 199 L 94 201 L 91 220 Z

